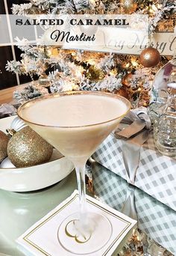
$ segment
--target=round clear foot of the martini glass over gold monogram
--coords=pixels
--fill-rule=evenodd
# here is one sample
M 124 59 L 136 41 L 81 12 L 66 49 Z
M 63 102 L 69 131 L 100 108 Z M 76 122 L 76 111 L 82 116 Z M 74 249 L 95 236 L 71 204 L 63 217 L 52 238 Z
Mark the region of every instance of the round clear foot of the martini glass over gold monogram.
M 112 225 L 100 213 L 87 213 L 87 223 L 79 221 L 79 213 L 68 216 L 58 228 L 57 237 L 68 252 L 87 255 L 102 249 L 110 240 Z

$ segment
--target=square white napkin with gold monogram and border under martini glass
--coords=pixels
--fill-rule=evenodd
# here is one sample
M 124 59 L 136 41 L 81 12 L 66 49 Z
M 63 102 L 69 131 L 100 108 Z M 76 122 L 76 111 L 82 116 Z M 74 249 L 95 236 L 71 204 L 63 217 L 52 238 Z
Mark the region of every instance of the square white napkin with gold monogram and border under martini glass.
M 131 235 L 136 221 L 87 195 L 87 210 L 92 218 L 90 226 L 93 228 L 87 236 L 81 237 L 74 226 L 78 219 L 78 199 L 78 191 L 75 190 L 69 198 L 22 234 L 16 242 L 23 250 L 37 256 L 111 256 L 118 252 Z M 96 213 L 100 216 L 99 219 L 95 219 Z M 94 232 L 98 225 L 101 227 L 99 234 Z M 103 234 L 108 231 L 110 237 L 102 243 Z

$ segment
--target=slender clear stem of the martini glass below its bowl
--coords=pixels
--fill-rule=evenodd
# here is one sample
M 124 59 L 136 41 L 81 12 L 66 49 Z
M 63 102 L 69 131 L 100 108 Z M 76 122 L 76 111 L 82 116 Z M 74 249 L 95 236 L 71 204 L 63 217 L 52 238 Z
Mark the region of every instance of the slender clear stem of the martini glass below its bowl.
M 86 163 L 75 166 L 79 192 L 80 222 L 84 225 L 87 222 L 85 169 Z

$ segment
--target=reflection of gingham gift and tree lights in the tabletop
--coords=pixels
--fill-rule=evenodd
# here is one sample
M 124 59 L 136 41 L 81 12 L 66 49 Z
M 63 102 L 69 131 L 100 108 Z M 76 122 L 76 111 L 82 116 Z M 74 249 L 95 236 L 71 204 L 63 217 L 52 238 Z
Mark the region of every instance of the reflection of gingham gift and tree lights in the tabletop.
M 120 256 L 176 255 L 174 210 L 96 162 L 92 163 L 92 180 L 101 201 L 138 221 L 140 231 L 134 232 Z

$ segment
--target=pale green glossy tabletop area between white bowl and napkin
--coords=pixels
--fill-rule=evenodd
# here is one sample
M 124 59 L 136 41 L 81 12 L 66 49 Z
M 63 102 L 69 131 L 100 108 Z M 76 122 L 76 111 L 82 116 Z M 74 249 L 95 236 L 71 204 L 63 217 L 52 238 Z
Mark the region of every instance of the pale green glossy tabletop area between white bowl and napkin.
M 72 171 L 60 183 L 36 192 L 16 193 L 0 189 L 0 255 L 26 255 L 15 240 L 69 197 L 77 188 L 76 184 L 75 171 Z

